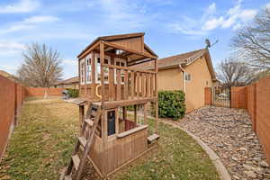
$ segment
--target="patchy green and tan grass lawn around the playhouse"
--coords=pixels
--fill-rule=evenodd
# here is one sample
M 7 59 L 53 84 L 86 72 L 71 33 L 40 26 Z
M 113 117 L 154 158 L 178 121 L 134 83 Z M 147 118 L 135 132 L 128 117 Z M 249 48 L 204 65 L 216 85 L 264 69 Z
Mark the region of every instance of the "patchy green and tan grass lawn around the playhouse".
M 150 123 L 153 130 L 154 123 Z M 78 107 L 59 99 L 25 103 L 0 163 L 0 180 L 54 180 L 67 166 L 78 132 Z M 159 148 L 111 179 L 219 179 L 211 159 L 184 131 L 159 124 Z

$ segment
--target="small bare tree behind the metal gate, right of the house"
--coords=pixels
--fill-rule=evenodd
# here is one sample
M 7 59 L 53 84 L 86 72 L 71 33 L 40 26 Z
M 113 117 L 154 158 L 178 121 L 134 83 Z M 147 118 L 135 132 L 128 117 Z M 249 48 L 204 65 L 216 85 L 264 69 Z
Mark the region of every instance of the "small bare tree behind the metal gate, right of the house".
M 229 58 L 220 62 L 217 77 L 225 86 L 247 85 L 256 78 L 252 72 L 246 63 Z

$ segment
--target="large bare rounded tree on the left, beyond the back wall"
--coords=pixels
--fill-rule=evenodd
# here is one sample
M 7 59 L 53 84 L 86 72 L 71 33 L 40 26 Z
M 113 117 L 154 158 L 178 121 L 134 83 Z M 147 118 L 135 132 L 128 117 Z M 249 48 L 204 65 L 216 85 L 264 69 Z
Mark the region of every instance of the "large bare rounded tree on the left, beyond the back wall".
M 49 87 L 61 79 L 62 71 L 57 50 L 33 43 L 26 46 L 17 74 L 24 85 Z

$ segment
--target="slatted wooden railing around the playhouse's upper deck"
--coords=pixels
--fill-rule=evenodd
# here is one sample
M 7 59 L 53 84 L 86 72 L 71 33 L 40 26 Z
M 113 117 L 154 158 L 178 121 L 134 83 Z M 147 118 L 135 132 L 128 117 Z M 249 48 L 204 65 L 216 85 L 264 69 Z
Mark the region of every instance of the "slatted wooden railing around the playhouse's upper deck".
M 109 101 L 152 98 L 156 95 L 156 72 L 136 67 L 103 65 Z

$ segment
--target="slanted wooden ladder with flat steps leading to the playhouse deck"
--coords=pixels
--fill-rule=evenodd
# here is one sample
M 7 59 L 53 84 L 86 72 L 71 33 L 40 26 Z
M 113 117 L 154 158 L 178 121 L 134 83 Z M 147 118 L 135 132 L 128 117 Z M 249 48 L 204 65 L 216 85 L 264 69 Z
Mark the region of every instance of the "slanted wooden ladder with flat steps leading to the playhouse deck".
M 86 112 L 80 136 L 77 138 L 76 146 L 65 175 L 60 180 L 80 180 L 87 161 L 87 156 L 94 143 L 94 132 L 100 121 L 102 110 L 100 105 L 91 103 Z M 88 130 L 87 130 L 88 129 Z M 83 147 L 83 155 L 79 157 L 79 149 Z

